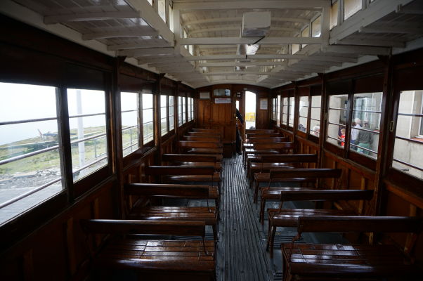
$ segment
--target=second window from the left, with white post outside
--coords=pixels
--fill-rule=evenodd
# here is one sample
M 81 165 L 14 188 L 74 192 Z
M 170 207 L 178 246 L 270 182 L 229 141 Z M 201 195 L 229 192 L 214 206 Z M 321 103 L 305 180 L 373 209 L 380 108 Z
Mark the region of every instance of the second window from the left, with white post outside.
M 105 92 L 67 89 L 73 180 L 108 164 Z

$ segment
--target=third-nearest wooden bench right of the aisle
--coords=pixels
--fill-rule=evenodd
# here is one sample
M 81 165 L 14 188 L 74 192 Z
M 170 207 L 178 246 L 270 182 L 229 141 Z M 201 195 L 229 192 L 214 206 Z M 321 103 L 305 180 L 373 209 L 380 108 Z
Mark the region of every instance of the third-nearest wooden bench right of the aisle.
M 254 199 L 260 183 L 268 183 L 267 187 L 260 188 L 260 221 L 264 223 L 264 209 L 269 200 L 280 200 L 280 192 L 284 188 L 273 188 L 270 183 L 316 183 L 320 178 L 340 178 L 341 169 L 273 169 L 269 173 L 254 174 L 256 181 Z M 273 191 L 272 191 L 273 190 Z M 276 193 L 275 193 L 276 191 Z M 277 192 L 279 191 L 279 194 Z

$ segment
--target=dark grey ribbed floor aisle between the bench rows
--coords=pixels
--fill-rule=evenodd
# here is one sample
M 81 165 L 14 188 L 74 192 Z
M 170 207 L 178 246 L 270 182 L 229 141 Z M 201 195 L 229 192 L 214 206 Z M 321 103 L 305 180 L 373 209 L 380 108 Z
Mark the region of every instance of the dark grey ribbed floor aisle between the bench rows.
M 223 159 L 221 190 L 217 279 L 272 280 L 266 237 L 249 195 L 242 156 Z

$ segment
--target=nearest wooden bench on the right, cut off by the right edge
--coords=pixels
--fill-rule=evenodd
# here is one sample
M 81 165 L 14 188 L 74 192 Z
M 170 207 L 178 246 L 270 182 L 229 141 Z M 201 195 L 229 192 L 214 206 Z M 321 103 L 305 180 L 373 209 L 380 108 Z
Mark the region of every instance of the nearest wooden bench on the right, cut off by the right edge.
M 299 217 L 298 236 L 306 232 L 421 233 L 421 217 Z M 284 280 L 421 280 L 422 268 L 391 244 L 282 244 Z

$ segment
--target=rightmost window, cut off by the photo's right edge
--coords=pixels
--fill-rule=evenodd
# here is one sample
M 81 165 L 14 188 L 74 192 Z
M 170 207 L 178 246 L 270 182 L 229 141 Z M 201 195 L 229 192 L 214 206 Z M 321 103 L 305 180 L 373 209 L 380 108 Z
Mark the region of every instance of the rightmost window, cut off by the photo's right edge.
M 423 91 L 402 91 L 392 167 L 423 178 Z

